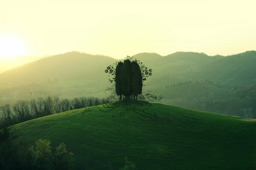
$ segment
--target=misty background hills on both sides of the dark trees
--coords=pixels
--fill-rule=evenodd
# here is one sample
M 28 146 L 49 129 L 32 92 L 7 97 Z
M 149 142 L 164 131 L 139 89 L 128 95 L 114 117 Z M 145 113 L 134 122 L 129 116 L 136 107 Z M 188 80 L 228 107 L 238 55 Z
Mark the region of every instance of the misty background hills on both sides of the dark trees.
M 245 116 L 241 109 L 249 108 L 248 117 L 256 116 L 256 51 L 227 57 L 195 52 L 133 57 L 153 69 L 143 93 L 156 91 L 164 95 L 163 103 L 238 116 Z M 106 97 L 105 89 L 112 84 L 104 70 L 116 61 L 103 55 L 68 52 L 11 69 L 0 74 L 0 105 L 47 95 Z M 234 102 L 239 108 L 231 105 Z

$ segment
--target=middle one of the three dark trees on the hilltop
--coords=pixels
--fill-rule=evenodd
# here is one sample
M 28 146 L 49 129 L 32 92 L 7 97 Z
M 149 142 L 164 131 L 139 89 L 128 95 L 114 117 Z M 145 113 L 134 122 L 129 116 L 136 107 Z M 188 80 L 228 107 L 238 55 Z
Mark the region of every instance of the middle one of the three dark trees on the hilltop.
M 131 61 L 129 59 L 124 61 L 124 65 L 122 66 L 121 71 L 122 94 L 125 95 L 126 99 L 130 99 L 130 95 L 132 94 L 132 72 Z

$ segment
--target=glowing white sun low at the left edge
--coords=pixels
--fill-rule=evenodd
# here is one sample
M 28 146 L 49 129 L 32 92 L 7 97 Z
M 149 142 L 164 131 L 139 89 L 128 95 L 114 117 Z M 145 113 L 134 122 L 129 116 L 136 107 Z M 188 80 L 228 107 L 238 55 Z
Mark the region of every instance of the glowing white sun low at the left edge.
M 26 45 L 20 38 L 15 36 L 0 37 L 0 57 L 12 58 L 26 55 Z

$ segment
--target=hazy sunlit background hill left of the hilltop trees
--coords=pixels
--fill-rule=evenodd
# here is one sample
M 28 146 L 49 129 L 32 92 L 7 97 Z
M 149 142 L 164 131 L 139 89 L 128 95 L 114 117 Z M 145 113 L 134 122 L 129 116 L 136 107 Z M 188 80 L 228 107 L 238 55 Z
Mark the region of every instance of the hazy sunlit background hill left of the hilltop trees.
M 113 62 L 116 59 L 79 52 L 39 59 L 0 74 L 0 103 L 43 94 L 102 96 L 109 86 L 104 68 Z

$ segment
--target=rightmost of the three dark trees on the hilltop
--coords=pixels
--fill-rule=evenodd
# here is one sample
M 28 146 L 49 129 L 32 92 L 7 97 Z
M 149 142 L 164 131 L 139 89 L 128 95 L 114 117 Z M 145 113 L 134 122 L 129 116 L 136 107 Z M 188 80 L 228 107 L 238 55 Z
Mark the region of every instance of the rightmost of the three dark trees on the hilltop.
M 132 71 L 132 88 L 134 99 L 138 99 L 138 94 L 142 94 L 142 74 L 140 70 L 140 65 L 137 61 L 131 62 L 131 71 Z

